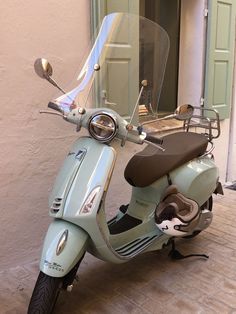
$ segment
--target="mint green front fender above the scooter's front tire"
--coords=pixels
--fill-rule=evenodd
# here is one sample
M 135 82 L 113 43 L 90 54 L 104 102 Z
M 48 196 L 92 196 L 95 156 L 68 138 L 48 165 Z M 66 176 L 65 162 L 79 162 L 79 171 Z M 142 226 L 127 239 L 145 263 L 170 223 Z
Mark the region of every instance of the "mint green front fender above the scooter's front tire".
M 80 227 L 54 220 L 44 240 L 40 270 L 52 277 L 64 277 L 83 256 L 88 239 L 87 232 Z M 59 243 L 61 249 L 58 250 Z

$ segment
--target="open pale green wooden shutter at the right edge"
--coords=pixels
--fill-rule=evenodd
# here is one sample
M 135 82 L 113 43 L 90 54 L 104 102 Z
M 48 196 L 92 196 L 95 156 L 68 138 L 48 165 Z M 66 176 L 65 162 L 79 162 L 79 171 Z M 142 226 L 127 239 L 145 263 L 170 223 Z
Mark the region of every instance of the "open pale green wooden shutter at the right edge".
M 208 0 L 206 108 L 228 118 L 232 103 L 235 45 L 235 0 Z

